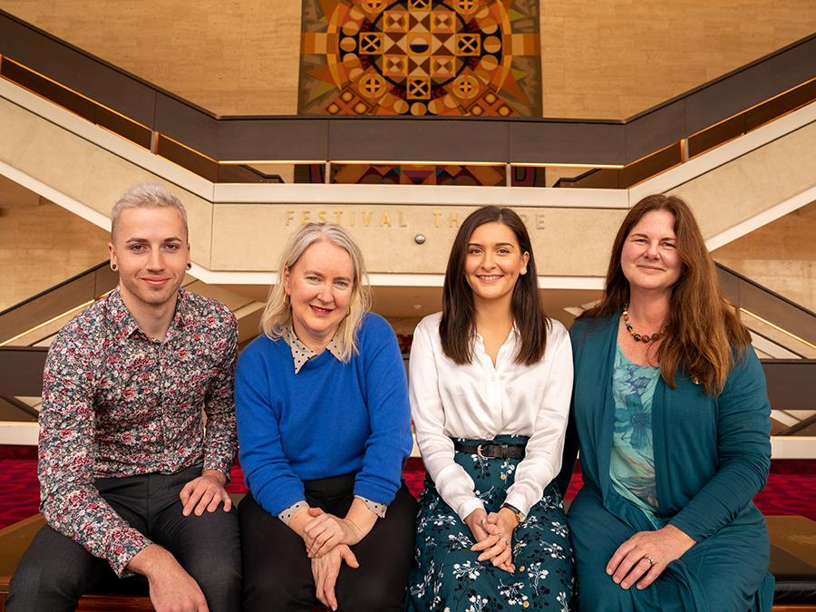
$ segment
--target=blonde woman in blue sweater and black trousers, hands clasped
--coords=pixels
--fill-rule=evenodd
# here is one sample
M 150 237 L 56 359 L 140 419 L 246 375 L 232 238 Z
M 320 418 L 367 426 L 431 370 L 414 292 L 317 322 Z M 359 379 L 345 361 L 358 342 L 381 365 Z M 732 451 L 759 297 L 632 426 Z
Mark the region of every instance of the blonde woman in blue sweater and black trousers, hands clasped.
M 396 337 L 368 312 L 343 228 L 301 228 L 278 270 L 264 335 L 236 373 L 243 609 L 399 610 L 416 502 L 402 481 L 413 442 Z

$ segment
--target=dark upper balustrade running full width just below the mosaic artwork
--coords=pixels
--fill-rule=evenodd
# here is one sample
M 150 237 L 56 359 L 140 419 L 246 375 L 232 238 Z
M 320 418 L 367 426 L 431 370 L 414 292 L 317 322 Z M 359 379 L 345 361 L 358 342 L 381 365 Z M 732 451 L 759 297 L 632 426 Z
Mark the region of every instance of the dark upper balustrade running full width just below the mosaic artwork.
M 625 121 L 219 117 L 4 11 L 0 55 L 6 79 L 213 182 L 257 181 L 251 160 L 438 161 L 606 167 L 627 187 L 816 100 L 816 34 Z

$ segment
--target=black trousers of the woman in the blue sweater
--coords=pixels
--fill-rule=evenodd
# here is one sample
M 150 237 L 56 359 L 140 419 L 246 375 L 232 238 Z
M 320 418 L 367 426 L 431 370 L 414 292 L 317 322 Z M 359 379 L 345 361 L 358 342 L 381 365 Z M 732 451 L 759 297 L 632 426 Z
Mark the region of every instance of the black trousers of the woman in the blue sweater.
M 355 474 L 306 481 L 306 502 L 345 517 L 354 498 Z M 360 568 L 343 562 L 335 596 L 343 612 L 402 610 L 413 559 L 417 504 L 404 483 L 365 538 L 351 547 Z M 245 612 L 288 612 L 321 607 L 303 539 L 247 495 L 238 514 L 244 539 Z

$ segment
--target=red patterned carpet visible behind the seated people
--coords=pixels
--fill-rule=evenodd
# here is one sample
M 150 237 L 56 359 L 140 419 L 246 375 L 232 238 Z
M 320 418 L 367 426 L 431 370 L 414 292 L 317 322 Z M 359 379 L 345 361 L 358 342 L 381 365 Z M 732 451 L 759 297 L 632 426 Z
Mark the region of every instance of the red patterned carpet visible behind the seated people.
M 422 491 L 424 476 L 422 461 L 408 460 L 405 481 L 414 495 Z M 569 485 L 568 500 L 575 497 L 580 485 L 578 470 Z M 239 466 L 232 470 L 228 491 L 247 491 Z M 774 461 L 768 484 L 754 501 L 765 514 L 798 514 L 816 520 L 816 461 Z M 38 503 L 34 448 L 0 447 L 0 528 L 30 517 Z

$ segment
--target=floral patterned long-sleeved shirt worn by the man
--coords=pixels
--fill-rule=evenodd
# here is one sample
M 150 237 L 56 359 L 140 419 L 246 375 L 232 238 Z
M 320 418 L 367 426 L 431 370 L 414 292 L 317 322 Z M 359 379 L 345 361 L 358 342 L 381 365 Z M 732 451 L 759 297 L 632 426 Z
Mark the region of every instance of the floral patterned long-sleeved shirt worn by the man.
M 65 325 L 48 351 L 39 419 L 48 524 L 126 573 L 151 541 L 102 499 L 94 479 L 193 465 L 228 476 L 238 447 L 237 346 L 228 308 L 183 289 L 163 340 L 141 331 L 119 288 Z

